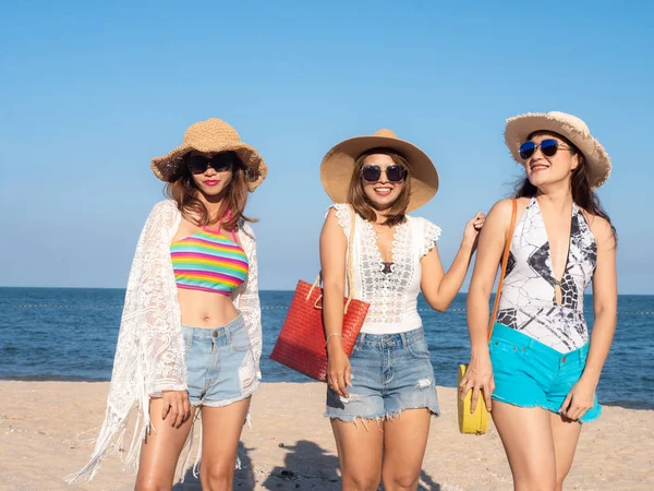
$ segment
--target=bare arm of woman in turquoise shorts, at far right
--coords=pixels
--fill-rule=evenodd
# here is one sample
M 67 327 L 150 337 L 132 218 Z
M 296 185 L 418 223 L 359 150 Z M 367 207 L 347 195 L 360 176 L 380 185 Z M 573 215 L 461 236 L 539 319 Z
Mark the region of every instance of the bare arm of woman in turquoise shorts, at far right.
M 597 243 L 597 266 L 593 275 L 593 310 L 595 322 L 586 366 L 579 382 L 570 390 L 559 412 L 572 420 L 580 419 L 594 405 L 600 374 L 616 332 L 618 282 L 616 241 L 607 220 L 594 217 L 591 225 Z

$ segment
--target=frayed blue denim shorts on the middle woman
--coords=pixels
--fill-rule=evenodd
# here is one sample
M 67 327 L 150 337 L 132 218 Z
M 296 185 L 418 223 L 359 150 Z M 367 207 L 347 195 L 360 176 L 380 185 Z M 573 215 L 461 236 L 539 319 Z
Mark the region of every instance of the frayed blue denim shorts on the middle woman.
M 350 397 L 327 387 L 326 417 L 382 420 L 423 407 L 439 414 L 434 368 L 422 327 L 398 334 L 361 333 L 350 363 Z

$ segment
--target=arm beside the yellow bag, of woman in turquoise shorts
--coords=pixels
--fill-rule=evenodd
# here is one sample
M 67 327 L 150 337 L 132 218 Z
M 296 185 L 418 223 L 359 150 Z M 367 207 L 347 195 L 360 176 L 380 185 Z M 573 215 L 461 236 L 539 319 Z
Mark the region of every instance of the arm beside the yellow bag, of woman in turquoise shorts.
M 495 388 L 493 367 L 488 352 L 488 300 L 497 276 L 497 268 L 511 221 L 511 200 L 496 203 L 480 235 L 477 258 L 468 290 L 468 330 L 470 333 L 470 363 L 461 384 L 461 398 L 472 388 L 471 411 L 476 408 L 480 391 L 484 392 L 491 410 L 491 395 Z

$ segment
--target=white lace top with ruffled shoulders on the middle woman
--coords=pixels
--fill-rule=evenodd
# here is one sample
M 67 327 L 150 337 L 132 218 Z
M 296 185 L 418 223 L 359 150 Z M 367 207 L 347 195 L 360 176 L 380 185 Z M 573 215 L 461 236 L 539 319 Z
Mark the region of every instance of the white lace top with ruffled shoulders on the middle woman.
M 349 238 L 350 205 L 335 204 L 334 208 Z M 392 264 L 390 272 L 385 272 L 373 224 L 356 214 L 353 250 L 348 254 L 354 254 L 354 298 L 371 304 L 362 333 L 402 333 L 422 326 L 417 314 L 420 260 L 436 246 L 438 236 L 440 228 L 429 220 L 407 216 L 407 220 L 396 228 Z

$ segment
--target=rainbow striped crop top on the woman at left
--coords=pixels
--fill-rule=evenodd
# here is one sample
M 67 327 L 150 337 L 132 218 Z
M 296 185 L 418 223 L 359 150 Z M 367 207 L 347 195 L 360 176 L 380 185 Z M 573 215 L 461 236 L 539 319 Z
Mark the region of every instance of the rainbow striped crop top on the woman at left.
M 178 288 L 231 295 L 247 278 L 247 256 L 222 233 L 203 227 L 201 231 L 170 246 Z

